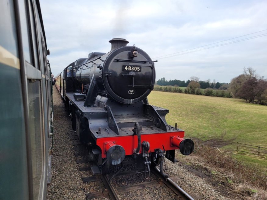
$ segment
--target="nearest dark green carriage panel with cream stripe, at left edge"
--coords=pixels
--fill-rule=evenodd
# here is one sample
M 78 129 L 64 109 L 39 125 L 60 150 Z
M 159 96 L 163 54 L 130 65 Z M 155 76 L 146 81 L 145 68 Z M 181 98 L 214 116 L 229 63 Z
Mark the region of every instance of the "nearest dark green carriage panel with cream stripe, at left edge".
M 0 1 L 0 199 L 28 200 L 30 174 L 22 92 L 23 68 L 20 65 L 18 16 L 14 2 Z

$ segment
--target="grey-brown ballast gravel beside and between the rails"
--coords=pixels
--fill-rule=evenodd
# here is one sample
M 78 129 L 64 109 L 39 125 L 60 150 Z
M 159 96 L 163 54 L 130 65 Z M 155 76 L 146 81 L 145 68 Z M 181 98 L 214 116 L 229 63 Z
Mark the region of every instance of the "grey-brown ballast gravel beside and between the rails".
M 47 199 L 68 199 L 79 200 L 85 199 L 85 194 L 95 191 L 103 191 L 105 189 L 101 181 L 84 183 L 82 177 L 93 176 L 91 171 L 80 171 L 79 167 L 90 166 L 88 163 L 77 164 L 76 160 L 82 160 L 83 157 L 76 157 L 73 143 L 76 140 L 71 140 L 74 131 L 71 128 L 70 117 L 66 108 L 62 103 L 61 97 L 54 87 L 53 102 L 54 102 L 54 148 L 52 158 L 52 181 L 48 186 Z M 77 151 L 76 151 L 77 152 Z M 201 196 L 203 200 L 230 200 L 216 191 L 216 188 L 209 184 L 208 179 L 201 178 L 195 174 L 179 166 L 178 163 L 172 163 L 166 159 L 168 168 L 167 173 L 170 177 L 180 177 L 182 181 L 177 184 L 190 195 Z M 156 180 L 155 175 L 151 174 L 150 181 Z M 114 187 L 122 187 L 126 185 L 147 182 L 144 174 L 128 175 L 124 177 L 116 177 L 112 180 Z M 120 195 L 122 200 L 127 199 L 171 199 L 173 192 L 164 184 L 145 188 L 138 191 L 126 192 Z M 96 198 L 98 200 L 109 198 Z M 232 199 L 232 198 L 231 198 Z M 239 199 L 239 198 L 236 198 Z

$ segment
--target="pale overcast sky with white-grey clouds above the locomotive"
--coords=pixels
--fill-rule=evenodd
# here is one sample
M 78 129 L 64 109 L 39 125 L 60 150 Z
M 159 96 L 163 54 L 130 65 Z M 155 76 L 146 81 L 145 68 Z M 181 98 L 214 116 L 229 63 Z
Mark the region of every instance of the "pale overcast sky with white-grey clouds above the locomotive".
M 55 75 L 90 52 L 110 51 L 109 40 L 120 37 L 158 60 L 156 80 L 197 76 L 230 82 L 244 67 L 267 78 L 267 1 L 40 0 L 40 4 Z

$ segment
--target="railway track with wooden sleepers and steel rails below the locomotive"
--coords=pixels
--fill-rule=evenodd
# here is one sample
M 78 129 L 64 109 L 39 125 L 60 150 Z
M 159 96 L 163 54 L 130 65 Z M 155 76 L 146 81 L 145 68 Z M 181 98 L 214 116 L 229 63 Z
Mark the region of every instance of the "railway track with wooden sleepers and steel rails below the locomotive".
M 80 142 L 77 142 L 77 136 L 73 135 L 73 137 L 71 138 L 74 140 L 73 142 L 73 146 L 77 146 L 78 148 L 76 148 L 76 153 L 75 156 L 80 157 L 80 156 L 84 156 L 87 155 L 87 150 L 84 146 L 82 146 L 80 144 Z M 127 161 L 124 161 L 125 165 L 130 164 Z M 78 159 L 77 163 L 90 163 L 87 159 Z M 89 171 L 91 170 L 91 167 L 80 167 L 79 168 L 80 171 Z M 131 170 L 131 171 L 122 171 L 120 173 L 118 173 L 116 175 L 116 177 L 125 177 L 128 175 L 133 175 L 136 174 L 135 170 Z M 126 186 L 121 186 L 121 187 L 115 187 L 112 184 L 112 181 L 110 181 L 110 179 L 112 178 L 114 174 L 110 174 L 110 175 L 106 175 L 106 174 L 96 174 L 94 176 L 89 176 L 89 177 L 83 177 L 82 180 L 84 182 L 94 182 L 94 181 L 98 181 L 98 182 L 102 182 L 105 186 L 105 189 L 103 191 L 96 191 L 96 192 L 91 192 L 91 193 L 87 193 L 86 194 L 86 199 L 93 199 L 93 198 L 110 198 L 112 200 L 121 200 L 122 198 L 120 196 L 122 196 L 123 194 L 127 193 L 127 192 L 131 192 L 131 191 L 140 191 L 142 189 L 145 188 L 151 188 L 151 187 L 156 187 L 156 186 L 160 186 L 165 184 L 171 191 L 173 191 L 173 198 L 164 198 L 162 197 L 162 199 L 166 199 L 166 200 L 197 200 L 197 199 L 201 199 L 201 196 L 198 195 L 194 195 L 194 196 L 190 196 L 189 194 L 187 194 L 187 192 L 185 192 L 182 188 L 179 187 L 179 185 L 177 185 L 175 182 L 176 181 L 182 181 L 179 177 L 168 177 L 165 178 L 163 177 L 160 172 L 159 169 L 157 167 L 155 167 L 154 169 L 151 169 L 151 176 L 153 176 L 153 178 L 151 178 L 149 181 L 147 182 L 141 182 L 141 183 L 136 183 L 136 184 L 131 184 L 131 185 L 126 185 Z M 114 179 L 116 179 L 116 177 Z M 114 180 L 112 179 L 112 180 Z M 145 179 L 144 179 L 145 180 Z

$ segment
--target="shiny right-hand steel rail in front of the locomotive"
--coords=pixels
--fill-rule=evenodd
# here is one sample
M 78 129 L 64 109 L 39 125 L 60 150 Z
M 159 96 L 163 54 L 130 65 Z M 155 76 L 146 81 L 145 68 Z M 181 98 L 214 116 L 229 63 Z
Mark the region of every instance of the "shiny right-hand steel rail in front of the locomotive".
M 184 191 L 182 188 L 180 188 L 179 185 L 177 185 L 173 180 L 170 178 L 166 178 L 160 174 L 160 170 L 157 167 L 154 167 L 151 169 L 151 171 L 159 177 L 172 191 L 175 192 L 176 195 L 180 195 L 182 199 L 184 200 L 194 200 L 193 197 L 191 197 L 189 194 L 187 194 L 186 191 Z

